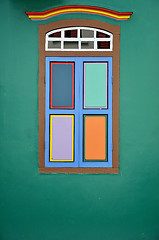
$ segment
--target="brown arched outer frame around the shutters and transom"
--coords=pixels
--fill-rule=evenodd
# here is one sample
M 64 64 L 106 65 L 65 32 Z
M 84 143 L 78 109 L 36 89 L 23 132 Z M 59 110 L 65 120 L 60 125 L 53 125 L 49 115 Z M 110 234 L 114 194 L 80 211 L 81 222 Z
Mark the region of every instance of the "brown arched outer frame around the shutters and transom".
M 113 34 L 113 51 L 45 51 L 45 35 L 64 27 L 93 27 Z M 39 25 L 39 172 L 40 173 L 119 173 L 119 56 L 120 26 L 88 19 L 62 20 Z M 113 60 L 113 153 L 111 168 L 45 167 L 45 57 L 112 57 Z

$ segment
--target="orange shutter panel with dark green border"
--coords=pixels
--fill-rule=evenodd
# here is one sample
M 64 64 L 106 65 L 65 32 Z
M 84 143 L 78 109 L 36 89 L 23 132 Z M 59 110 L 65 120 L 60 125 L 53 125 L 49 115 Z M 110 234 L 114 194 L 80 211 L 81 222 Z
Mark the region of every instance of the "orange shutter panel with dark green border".
M 107 115 L 84 115 L 84 161 L 107 161 Z

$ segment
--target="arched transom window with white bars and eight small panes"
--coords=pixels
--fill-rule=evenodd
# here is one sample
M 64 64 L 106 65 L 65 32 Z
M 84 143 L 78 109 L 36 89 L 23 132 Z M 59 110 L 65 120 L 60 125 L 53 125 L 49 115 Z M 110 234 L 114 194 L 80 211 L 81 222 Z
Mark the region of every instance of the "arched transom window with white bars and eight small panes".
M 113 34 L 90 27 L 61 28 L 46 33 L 46 51 L 113 51 Z

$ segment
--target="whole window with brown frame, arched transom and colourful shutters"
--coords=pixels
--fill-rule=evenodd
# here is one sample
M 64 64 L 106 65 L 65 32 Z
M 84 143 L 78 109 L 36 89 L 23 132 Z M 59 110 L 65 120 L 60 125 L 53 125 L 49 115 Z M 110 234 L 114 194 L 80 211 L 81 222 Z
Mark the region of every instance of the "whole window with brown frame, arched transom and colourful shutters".
M 119 26 L 39 26 L 40 172 L 118 173 Z

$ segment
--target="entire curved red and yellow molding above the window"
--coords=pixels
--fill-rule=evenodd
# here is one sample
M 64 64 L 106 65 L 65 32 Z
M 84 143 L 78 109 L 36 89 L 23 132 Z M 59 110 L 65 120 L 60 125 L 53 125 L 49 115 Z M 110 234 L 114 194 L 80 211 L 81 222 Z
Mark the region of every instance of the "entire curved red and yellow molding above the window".
M 34 21 L 47 20 L 55 16 L 70 14 L 70 13 L 89 13 L 89 14 L 109 17 L 119 21 L 128 20 L 130 16 L 133 14 L 132 12 L 117 12 L 117 11 L 113 11 L 106 8 L 84 6 L 84 5 L 70 5 L 70 6 L 56 7 L 43 12 L 26 12 L 28 17 Z

